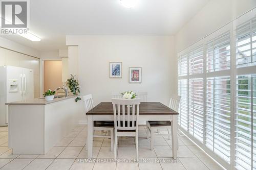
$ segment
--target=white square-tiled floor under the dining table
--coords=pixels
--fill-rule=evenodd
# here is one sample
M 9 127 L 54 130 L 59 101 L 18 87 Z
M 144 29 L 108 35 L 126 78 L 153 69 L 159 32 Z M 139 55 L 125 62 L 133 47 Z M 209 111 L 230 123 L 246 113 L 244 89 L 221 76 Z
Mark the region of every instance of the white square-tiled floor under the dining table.
M 79 163 L 78 159 L 87 160 L 85 150 L 86 126 L 76 127 L 70 134 L 59 141 L 46 155 L 13 155 L 8 148 L 8 128 L 0 127 L 0 169 L 83 169 L 83 170 L 118 170 L 118 169 L 139 169 L 139 170 L 167 170 L 167 169 L 222 169 L 215 161 L 209 158 L 187 137 L 179 135 L 178 159 L 172 159 L 172 141 L 168 137 L 155 139 L 154 150 L 150 150 L 150 139 L 145 139 L 144 127 L 139 130 L 139 163 L 127 162 L 87 162 Z M 101 132 L 97 132 L 101 133 Z M 113 152 L 110 152 L 110 139 L 94 138 L 93 158 L 112 159 Z M 131 160 L 136 157 L 134 138 L 120 138 L 118 158 Z M 103 159 L 106 160 L 106 159 Z

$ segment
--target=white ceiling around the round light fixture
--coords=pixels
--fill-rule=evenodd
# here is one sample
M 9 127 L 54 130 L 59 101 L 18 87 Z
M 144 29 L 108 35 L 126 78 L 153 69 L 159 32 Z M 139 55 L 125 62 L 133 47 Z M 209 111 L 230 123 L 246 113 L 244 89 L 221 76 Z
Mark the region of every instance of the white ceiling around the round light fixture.
M 3 36 L 41 52 L 67 48 L 66 35 L 173 35 L 209 0 L 138 0 L 124 8 L 119 0 L 30 1 L 30 31 L 41 38 Z

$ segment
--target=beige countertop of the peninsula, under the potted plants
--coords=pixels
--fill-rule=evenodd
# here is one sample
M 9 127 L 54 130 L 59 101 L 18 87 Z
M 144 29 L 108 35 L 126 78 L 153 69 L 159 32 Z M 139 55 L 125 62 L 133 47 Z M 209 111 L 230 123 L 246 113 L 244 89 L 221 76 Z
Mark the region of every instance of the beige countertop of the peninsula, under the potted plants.
M 45 101 L 44 98 L 36 98 L 36 99 L 6 103 L 6 105 L 47 105 L 50 103 L 55 103 L 55 102 L 63 101 L 66 99 L 76 98 L 76 97 L 77 97 L 77 95 L 69 95 L 67 98 L 66 97 L 54 98 L 53 101 Z

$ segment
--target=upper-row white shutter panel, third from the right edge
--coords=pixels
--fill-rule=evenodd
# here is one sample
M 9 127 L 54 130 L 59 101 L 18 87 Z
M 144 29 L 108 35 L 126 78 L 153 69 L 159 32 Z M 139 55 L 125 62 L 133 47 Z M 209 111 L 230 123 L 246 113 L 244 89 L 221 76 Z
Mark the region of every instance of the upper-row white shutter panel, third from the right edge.
M 191 50 L 189 52 L 189 74 L 190 75 L 203 73 L 203 58 L 204 58 L 203 45 L 200 45 L 194 50 Z

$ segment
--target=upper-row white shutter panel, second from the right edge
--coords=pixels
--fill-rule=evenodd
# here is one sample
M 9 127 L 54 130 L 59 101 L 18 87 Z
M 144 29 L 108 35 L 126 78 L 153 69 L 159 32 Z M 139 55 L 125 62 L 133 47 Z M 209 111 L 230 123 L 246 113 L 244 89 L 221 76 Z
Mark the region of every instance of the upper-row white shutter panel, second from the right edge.
M 230 69 L 230 32 L 226 32 L 206 44 L 207 72 Z

